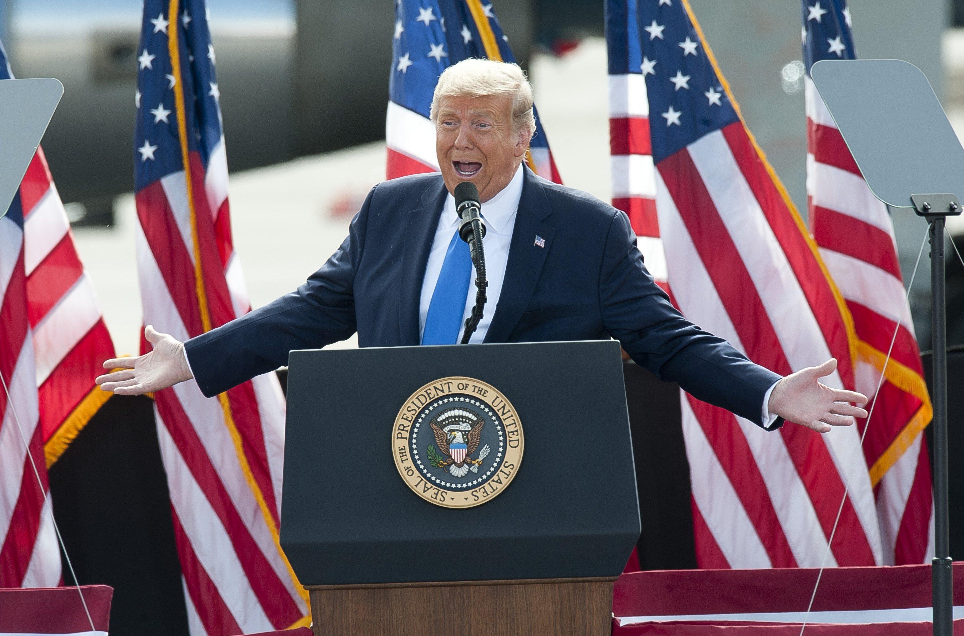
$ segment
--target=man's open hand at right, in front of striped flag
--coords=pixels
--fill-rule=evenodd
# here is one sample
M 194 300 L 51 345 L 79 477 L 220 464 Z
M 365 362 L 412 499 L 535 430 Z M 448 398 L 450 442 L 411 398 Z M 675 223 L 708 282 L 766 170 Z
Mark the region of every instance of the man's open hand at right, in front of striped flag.
M 767 408 L 817 433 L 826 433 L 831 426 L 850 426 L 854 417 L 867 417 L 867 411 L 847 404 L 867 404 L 866 395 L 820 384 L 819 379 L 829 376 L 836 368 L 837 359 L 830 358 L 819 366 L 791 373 L 773 387 Z

